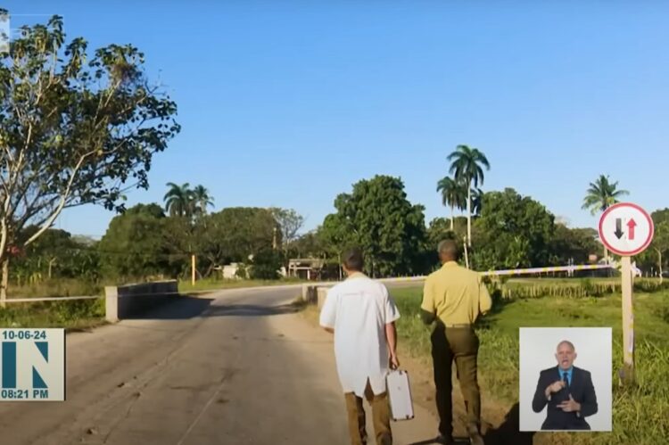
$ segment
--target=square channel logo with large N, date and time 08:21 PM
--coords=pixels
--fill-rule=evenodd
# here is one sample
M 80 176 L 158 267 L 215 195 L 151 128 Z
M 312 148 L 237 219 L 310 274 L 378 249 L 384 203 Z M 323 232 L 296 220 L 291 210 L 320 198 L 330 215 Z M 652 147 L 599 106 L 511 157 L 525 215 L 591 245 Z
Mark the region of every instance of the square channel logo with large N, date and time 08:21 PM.
M 0 401 L 65 400 L 65 330 L 0 329 Z

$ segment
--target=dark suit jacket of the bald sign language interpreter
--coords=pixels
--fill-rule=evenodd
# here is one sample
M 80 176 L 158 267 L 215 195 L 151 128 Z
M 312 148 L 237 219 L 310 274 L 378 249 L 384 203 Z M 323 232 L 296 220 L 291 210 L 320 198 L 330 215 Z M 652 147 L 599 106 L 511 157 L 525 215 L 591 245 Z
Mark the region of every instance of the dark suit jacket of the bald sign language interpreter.
M 595 387 L 592 385 L 592 378 L 589 371 L 574 367 L 572 372 L 572 383 L 558 392 L 550 395 L 550 400 L 546 399 L 546 388 L 551 383 L 562 380 L 558 367 L 544 369 L 539 375 L 537 390 L 534 392 L 532 408 L 535 413 L 541 413 L 544 407 L 546 410 L 546 420 L 541 425 L 542 430 L 590 430 L 590 424 L 585 421 L 585 417 L 597 413 L 597 395 Z M 572 398 L 581 404 L 581 411 L 578 413 L 566 413 L 558 405 L 565 400 L 569 400 L 569 394 Z

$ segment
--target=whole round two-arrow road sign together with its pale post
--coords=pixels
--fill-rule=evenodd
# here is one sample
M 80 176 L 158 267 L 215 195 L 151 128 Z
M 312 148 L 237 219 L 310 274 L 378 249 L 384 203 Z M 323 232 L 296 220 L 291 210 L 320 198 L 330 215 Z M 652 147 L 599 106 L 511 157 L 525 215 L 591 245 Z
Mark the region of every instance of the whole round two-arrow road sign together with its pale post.
M 609 207 L 599 219 L 599 239 L 621 259 L 623 285 L 624 383 L 634 381 L 634 313 L 632 310 L 632 256 L 645 251 L 653 239 L 653 219 L 638 205 L 621 202 Z

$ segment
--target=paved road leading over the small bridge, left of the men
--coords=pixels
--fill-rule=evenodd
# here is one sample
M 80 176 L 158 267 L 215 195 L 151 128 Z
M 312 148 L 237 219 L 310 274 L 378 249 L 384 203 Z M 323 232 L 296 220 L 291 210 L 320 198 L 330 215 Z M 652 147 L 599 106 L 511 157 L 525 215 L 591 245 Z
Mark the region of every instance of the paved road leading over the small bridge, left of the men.
M 0 404 L 2 443 L 347 444 L 332 339 L 292 313 L 298 293 L 185 298 L 68 335 L 67 401 Z M 395 443 L 434 436 L 416 409 Z

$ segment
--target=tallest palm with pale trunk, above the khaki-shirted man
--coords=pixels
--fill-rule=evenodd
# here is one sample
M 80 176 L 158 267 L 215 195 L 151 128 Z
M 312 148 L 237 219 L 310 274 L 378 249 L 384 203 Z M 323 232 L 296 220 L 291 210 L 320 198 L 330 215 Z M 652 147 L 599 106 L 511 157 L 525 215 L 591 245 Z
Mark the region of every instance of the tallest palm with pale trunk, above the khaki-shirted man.
M 483 152 L 467 145 L 458 145 L 447 158 L 450 173 L 467 185 L 467 244 L 472 245 L 472 185 L 483 185 L 483 168 L 490 170 L 490 163 Z

